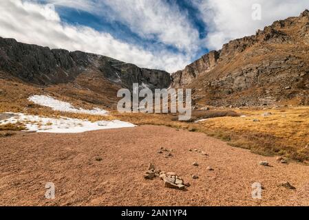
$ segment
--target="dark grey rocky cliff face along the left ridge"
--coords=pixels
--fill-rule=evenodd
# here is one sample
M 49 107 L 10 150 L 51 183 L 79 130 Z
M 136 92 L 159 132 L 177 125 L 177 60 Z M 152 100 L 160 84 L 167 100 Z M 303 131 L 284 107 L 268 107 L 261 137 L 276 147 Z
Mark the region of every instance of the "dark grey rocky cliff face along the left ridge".
M 110 83 L 126 88 L 131 88 L 133 83 L 150 88 L 167 88 L 171 84 L 169 73 L 164 71 L 143 69 L 106 56 L 50 50 L 1 37 L 0 72 L 36 85 L 70 83 L 87 72 L 97 72 Z

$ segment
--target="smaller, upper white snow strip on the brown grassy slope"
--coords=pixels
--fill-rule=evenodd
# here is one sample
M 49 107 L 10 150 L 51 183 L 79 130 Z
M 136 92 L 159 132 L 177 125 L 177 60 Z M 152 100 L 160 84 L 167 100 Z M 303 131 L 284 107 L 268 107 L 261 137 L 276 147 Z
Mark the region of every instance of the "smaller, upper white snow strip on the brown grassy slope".
M 94 108 L 92 110 L 87 109 L 76 109 L 72 107 L 72 104 L 69 102 L 63 102 L 60 100 L 56 100 L 50 96 L 30 96 L 28 98 L 31 102 L 35 104 L 39 104 L 45 107 L 50 107 L 54 111 L 63 111 L 63 112 L 71 112 L 71 113 L 85 113 L 89 115 L 107 115 L 108 111 L 103 109 Z

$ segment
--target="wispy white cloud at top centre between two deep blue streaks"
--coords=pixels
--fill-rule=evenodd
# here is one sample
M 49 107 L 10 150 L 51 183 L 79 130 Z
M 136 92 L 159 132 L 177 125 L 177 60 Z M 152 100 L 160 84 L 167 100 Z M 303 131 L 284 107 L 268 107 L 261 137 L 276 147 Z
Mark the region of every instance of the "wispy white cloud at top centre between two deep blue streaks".
M 158 39 L 160 43 L 173 45 L 179 50 L 194 53 L 200 44 L 187 13 L 176 4 L 163 0 L 45 0 L 87 12 L 104 14 L 111 20 L 127 25 L 132 32 L 145 39 Z

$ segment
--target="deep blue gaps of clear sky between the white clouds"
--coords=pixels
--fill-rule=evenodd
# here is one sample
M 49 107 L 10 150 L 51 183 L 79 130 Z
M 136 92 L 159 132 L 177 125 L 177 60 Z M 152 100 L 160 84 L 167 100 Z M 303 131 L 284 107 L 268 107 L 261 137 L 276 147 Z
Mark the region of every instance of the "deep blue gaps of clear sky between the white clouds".
M 204 39 L 206 36 L 206 26 L 203 23 L 200 12 L 197 8 L 191 5 L 187 0 L 169 0 L 167 1 L 172 7 L 178 7 L 182 13 L 188 14 L 188 19 L 191 25 L 198 30 L 199 39 Z M 108 32 L 116 39 L 125 41 L 130 44 L 140 45 L 145 50 L 169 50 L 173 53 L 184 53 L 173 45 L 162 43 L 156 36 L 153 38 L 145 38 L 131 31 L 129 25 L 120 21 L 112 21 L 109 17 L 105 17 L 102 14 L 92 14 L 84 10 L 78 10 L 76 8 L 70 8 L 67 6 L 56 5 L 56 11 L 61 17 L 61 20 L 72 25 L 85 25 L 99 32 Z M 203 54 L 206 54 L 206 45 L 200 47 L 193 56 L 193 60 L 200 58 Z

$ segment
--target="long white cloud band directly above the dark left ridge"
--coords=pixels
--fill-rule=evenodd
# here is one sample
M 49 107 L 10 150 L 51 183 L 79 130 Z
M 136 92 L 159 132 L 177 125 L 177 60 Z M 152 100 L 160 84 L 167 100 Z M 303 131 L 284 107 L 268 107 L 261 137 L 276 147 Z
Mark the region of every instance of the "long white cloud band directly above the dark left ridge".
M 150 52 L 118 41 L 108 33 L 62 23 L 59 15 L 47 5 L 8 0 L 0 1 L 0 10 L 1 36 L 23 43 L 103 54 L 140 67 L 168 72 L 182 69 L 190 62 L 190 57 L 182 54 Z

